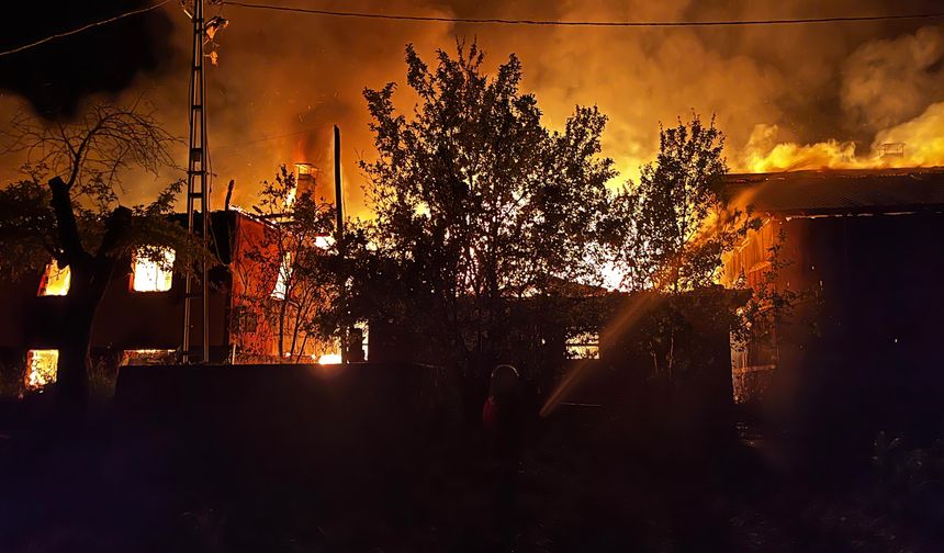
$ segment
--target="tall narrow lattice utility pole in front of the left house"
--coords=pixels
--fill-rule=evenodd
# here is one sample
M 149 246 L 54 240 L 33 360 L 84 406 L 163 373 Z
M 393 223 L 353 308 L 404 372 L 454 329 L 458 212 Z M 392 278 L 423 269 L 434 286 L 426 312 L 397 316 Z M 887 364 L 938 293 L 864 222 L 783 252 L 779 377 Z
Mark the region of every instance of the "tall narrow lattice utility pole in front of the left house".
M 183 363 L 192 363 L 200 359 L 203 363 L 210 362 L 210 309 L 209 307 L 209 280 L 206 259 L 209 228 L 210 228 L 210 191 L 206 185 L 206 113 L 205 113 L 205 87 L 203 80 L 203 43 L 206 34 L 206 24 L 203 20 L 203 0 L 193 0 L 193 56 L 190 64 L 190 149 L 187 162 L 187 230 L 191 236 L 200 236 L 203 245 L 203 260 L 201 263 L 199 290 L 194 284 L 194 275 L 187 273 L 187 285 L 183 295 L 183 336 L 180 352 Z M 198 207 L 199 202 L 199 207 Z M 199 222 L 196 213 L 200 213 Z M 200 228 L 198 229 L 198 224 Z M 198 303 L 201 309 L 203 338 L 202 354 L 200 350 L 191 348 L 191 318 L 193 305 Z

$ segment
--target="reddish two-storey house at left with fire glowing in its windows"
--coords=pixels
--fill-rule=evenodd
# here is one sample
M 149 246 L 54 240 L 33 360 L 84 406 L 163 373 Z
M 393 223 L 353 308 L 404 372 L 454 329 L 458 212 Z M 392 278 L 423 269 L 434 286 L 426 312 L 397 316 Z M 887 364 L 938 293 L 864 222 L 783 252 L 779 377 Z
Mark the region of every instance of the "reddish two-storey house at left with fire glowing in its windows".
M 199 216 L 198 216 L 199 218 Z M 181 222 L 181 224 L 183 224 Z M 278 353 L 278 334 L 260 296 L 278 300 L 278 271 L 261 267 L 254 250 L 265 247 L 263 219 L 228 210 L 211 215 L 211 238 L 221 263 L 211 269 L 211 360 L 252 362 Z M 172 263 L 173 252 L 166 253 Z M 183 320 L 183 276 L 159 263 L 131 257 L 117 271 L 99 307 L 92 331 L 92 356 L 105 363 L 148 363 L 172 360 L 180 347 Z M 27 387 L 55 379 L 57 343 L 63 327 L 64 297 L 69 293 L 68 268 L 55 262 L 43 274 L 0 286 L 0 364 L 22 370 Z M 198 307 L 199 311 L 199 307 Z M 194 320 L 200 320 L 198 313 Z M 194 327 L 194 340 L 202 339 Z

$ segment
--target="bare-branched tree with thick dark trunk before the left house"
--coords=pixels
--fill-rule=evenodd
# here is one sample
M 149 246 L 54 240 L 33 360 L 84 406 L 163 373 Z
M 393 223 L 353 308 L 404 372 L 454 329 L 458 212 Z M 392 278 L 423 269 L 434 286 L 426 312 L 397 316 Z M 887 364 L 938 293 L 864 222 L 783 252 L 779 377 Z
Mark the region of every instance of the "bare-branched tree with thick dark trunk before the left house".
M 188 269 L 202 255 L 168 217 L 181 181 L 148 205 L 123 206 L 119 199 L 122 170 L 157 174 L 173 167 L 169 148 L 178 139 L 138 101 L 124 108 L 93 105 L 69 123 L 21 113 L 2 140 L 3 151 L 26 154 L 29 178 L 0 190 L 0 212 L 16 212 L 0 221 L 0 267 L 15 276 L 38 270 L 52 257 L 69 268 L 56 394 L 81 407 L 88 398 L 95 314 L 119 261 L 139 252 L 166 263 L 161 250 L 169 247 L 177 252 L 177 267 Z

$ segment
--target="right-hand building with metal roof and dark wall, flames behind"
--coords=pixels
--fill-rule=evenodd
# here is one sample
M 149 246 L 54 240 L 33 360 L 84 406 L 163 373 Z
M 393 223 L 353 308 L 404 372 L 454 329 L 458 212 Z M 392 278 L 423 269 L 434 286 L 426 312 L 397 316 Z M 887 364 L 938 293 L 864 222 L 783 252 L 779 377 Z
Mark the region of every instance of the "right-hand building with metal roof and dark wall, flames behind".
M 941 425 L 944 169 L 729 179 L 731 199 L 763 227 L 727 257 L 723 284 L 766 280 L 800 294 L 791 314 L 732 351 L 735 398 L 801 413 L 855 397 L 859 418 Z M 778 242 L 787 264 L 772 274 Z

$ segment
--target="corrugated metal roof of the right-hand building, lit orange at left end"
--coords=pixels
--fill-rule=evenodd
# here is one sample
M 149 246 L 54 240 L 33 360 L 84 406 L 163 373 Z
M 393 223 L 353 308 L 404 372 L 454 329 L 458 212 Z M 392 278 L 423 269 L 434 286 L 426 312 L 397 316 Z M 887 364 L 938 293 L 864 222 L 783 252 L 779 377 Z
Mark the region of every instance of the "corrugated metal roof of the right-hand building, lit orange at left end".
M 726 193 L 780 215 L 944 211 L 944 168 L 730 174 Z

